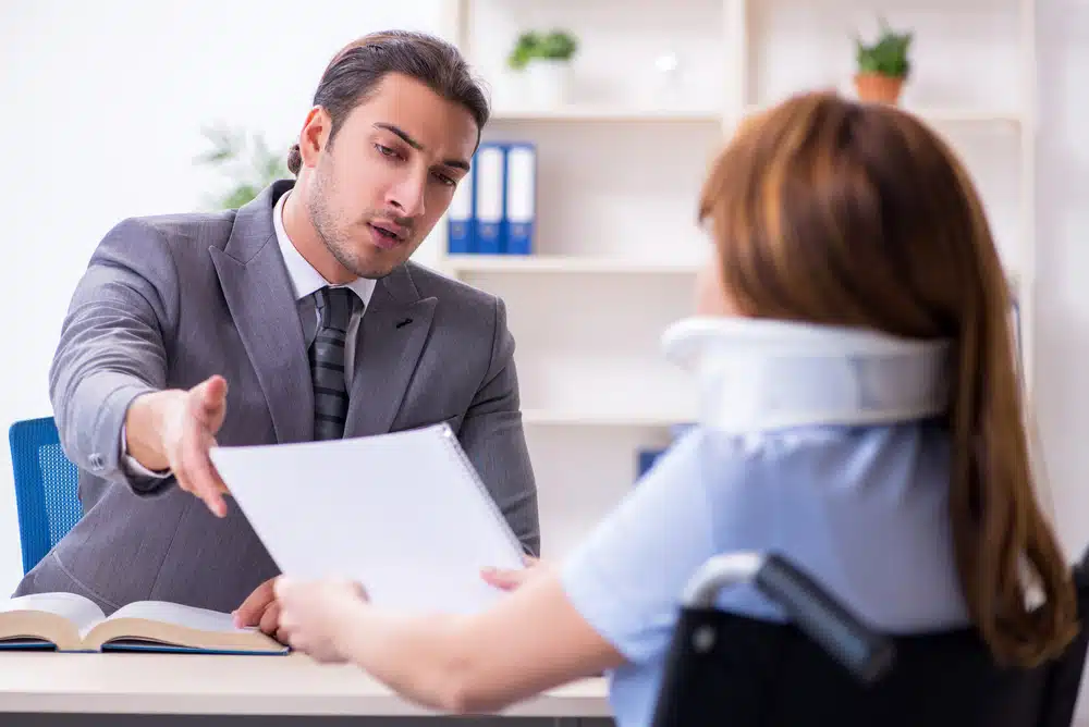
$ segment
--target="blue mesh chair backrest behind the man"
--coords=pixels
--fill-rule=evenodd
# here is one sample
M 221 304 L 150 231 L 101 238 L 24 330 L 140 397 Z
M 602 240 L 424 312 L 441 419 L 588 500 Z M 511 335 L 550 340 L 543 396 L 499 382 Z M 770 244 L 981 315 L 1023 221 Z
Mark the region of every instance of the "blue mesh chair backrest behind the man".
M 16 421 L 8 441 L 25 574 L 83 515 L 79 470 L 64 456 L 52 417 Z

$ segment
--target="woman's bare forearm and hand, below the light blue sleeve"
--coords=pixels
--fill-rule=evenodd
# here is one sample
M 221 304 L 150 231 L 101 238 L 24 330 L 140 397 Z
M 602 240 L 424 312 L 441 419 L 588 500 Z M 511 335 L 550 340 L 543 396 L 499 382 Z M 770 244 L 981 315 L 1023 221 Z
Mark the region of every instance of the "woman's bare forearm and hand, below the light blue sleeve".
M 360 595 L 352 584 L 281 579 L 277 597 L 289 642 L 319 658 L 352 662 L 431 708 L 495 712 L 624 663 L 552 571 L 474 616 L 400 616 Z

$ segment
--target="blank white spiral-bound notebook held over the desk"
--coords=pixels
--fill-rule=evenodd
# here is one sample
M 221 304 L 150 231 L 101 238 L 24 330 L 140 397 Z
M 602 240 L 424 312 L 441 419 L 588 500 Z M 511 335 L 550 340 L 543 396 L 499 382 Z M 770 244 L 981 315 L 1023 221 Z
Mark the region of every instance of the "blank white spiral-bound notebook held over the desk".
M 280 570 L 360 582 L 402 613 L 478 612 L 481 568 L 522 545 L 446 424 L 376 436 L 216 447 L 211 459 Z

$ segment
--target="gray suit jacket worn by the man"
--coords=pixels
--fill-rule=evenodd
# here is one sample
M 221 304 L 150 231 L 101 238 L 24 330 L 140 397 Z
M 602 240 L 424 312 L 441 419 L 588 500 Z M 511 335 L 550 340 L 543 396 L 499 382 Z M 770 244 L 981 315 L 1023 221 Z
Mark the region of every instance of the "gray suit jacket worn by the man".
M 108 613 L 145 599 L 231 611 L 278 575 L 230 500 L 218 519 L 173 479 L 129 478 L 121 429 L 138 394 L 220 373 L 228 381 L 220 444 L 313 438 L 304 333 L 272 229 L 272 206 L 292 184 L 273 184 L 237 212 L 125 220 L 101 242 L 50 371 L 61 443 L 81 469 L 84 517 L 17 594 L 82 593 Z M 378 282 L 359 324 L 345 436 L 449 422 L 537 553 L 513 354 L 499 298 L 403 266 Z M 345 472 L 344 486 L 355 477 L 367 477 L 366 465 Z

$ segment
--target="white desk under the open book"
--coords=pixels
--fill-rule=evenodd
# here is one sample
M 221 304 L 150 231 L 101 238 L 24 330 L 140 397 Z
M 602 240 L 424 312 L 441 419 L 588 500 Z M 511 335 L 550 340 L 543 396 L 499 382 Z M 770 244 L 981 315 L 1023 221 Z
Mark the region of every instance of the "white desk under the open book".
M 0 654 L 0 713 L 7 714 L 0 714 L 5 726 L 12 713 L 58 715 L 52 724 L 119 724 L 115 715 L 159 715 L 148 719 L 156 725 L 164 724 L 163 715 L 292 715 L 291 724 L 297 717 L 416 717 L 379 720 L 396 725 L 418 724 L 425 717 L 431 724 L 441 717 L 356 668 L 323 666 L 297 654 Z M 60 719 L 76 714 L 88 718 Z M 90 715 L 114 717 L 106 722 Z M 512 724 L 529 718 L 579 724 L 608 716 L 605 683 L 590 679 L 530 699 L 481 724 L 509 724 L 512 718 Z

